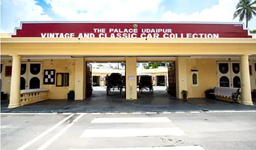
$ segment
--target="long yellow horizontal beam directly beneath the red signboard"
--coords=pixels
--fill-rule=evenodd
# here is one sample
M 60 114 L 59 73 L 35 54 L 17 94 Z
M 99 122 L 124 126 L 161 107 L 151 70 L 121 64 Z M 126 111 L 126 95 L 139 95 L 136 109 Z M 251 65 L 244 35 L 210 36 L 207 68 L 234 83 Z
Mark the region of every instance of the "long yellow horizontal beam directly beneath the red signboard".
M 256 38 L 1 38 L 2 55 L 256 55 Z

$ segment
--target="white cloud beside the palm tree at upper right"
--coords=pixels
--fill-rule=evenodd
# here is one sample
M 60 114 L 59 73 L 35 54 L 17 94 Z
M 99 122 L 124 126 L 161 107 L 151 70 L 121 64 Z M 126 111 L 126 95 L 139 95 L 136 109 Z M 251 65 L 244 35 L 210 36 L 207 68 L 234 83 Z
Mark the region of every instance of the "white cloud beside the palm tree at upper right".
M 169 10 L 163 14 L 161 20 L 168 22 L 239 22 L 238 18 L 233 20 L 233 14 L 236 11 L 238 1 L 239 0 L 219 0 L 218 5 L 192 14 L 177 14 Z M 255 28 L 255 24 L 253 25 L 255 21 L 256 19 L 253 19 L 249 22 L 252 28 Z

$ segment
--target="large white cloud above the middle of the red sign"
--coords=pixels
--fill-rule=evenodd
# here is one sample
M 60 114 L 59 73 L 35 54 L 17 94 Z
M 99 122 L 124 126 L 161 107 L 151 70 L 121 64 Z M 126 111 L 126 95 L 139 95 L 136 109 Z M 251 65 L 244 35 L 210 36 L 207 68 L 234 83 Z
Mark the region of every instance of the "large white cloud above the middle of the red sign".
M 129 21 L 140 12 L 158 12 L 162 0 L 45 0 L 65 20 Z

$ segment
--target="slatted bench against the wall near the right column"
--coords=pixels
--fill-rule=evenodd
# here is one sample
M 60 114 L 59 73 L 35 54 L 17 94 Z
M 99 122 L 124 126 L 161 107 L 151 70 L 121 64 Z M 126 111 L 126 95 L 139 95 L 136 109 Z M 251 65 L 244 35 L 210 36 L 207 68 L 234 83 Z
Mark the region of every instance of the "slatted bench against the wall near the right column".
M 238 98 L 240 93 L 240 88 L 234 87 L 215 87 L 214 88 L 215 97 L 219 98 L 232 98 L 232 102 L 238 103 Z

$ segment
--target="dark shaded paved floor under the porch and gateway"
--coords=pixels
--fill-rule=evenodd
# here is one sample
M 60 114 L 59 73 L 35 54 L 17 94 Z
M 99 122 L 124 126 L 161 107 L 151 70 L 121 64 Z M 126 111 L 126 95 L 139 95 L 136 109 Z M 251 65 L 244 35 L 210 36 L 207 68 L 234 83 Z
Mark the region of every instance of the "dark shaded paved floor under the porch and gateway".
M 9 102 L 1 102 L 1 112 L 176 112 L 210 110 L 256 110 L 255 106 L 233 104 L 207 98 L 189 98 L 186 102 L 173 98 L 164 90 L 138 93 L 137 100 L 125 99 L 125 93 L 93 91 L 85 100 L 45 100 L 9 109 Z

